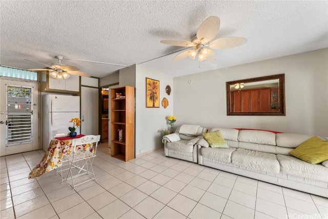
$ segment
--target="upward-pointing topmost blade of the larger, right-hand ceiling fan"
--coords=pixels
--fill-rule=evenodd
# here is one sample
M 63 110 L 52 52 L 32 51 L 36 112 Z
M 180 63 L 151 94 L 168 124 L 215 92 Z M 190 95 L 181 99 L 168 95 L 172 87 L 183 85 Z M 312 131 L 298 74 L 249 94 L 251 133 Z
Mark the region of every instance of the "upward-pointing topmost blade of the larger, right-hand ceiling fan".
M 197 30 L 197 38 L 206 44 L 216 36 L 220 29 L 220 18 L 217 16 L 210 16 L 207 18 Z

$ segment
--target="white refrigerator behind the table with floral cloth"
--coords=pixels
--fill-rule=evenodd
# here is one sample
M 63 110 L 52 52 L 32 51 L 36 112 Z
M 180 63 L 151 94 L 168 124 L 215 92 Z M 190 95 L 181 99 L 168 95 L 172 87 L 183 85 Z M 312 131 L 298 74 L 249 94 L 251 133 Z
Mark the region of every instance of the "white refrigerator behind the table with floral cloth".
M 54 137 L 66 136 L 72 118 L 80 117 L 80 97 L 48 94 L 43 97 L 43 150 Z M 79 134 L 79 129 L 76 130 Z

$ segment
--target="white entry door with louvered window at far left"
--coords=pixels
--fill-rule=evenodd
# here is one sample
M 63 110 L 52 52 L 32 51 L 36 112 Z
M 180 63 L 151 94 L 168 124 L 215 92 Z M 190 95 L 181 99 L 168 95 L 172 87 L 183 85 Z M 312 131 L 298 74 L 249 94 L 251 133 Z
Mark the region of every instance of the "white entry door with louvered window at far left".
M 39 149 L 38 114 L 38 83 L 0 78 L 1 156 Z

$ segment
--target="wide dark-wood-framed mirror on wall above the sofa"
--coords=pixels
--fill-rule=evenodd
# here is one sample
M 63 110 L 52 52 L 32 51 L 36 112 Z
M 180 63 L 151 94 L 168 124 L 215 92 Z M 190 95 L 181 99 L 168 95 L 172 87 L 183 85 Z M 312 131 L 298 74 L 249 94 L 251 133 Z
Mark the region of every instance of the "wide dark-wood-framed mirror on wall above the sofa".
M 284 74 L 227 82 L 227 115 L 285 115 Z

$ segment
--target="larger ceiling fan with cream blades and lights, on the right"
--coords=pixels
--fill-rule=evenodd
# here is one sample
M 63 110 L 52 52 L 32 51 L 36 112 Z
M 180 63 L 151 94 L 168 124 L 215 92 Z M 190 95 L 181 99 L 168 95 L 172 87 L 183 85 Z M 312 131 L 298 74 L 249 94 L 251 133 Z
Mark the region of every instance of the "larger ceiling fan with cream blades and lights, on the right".
M 241 46 L 247 42 L 247 39 L 236 36 L 221 37 L 212 41 L 219 31 L 219 28 L 220 18 L 217 16 L 210 16 L 199 26 L 196 36 L 194 36 L 191 41 L 163 39 L 160 42 L 174 46 L 193 47 L 193 49 L 181 52 L 175 56 L 173 61 L 178 61 L 187 56 L 191 59 L 195 59 L 198 53 L 198 61 L 207 60 L 210 62 L 215 60 L 215 52 L 212 49 L 233 48 Z

